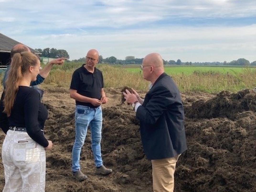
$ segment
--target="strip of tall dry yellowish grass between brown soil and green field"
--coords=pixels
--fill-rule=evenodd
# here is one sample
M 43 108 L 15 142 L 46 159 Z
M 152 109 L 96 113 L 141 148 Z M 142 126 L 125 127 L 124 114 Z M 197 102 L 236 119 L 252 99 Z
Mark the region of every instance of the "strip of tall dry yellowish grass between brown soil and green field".
M 41 86 L 66 87 L 68 89 L 74 70 L 81 65 L 82 63 L 75 63 L 75 65 L 72 65 L 72 63 L 65 63 L 63 66 L 55 66 Z M 143 79 L 142 72 L 128 72 L 120 66 L 103 64 L 98 64 L 97 68 L 103 73 L 104 87 L 121 88 L 127 86 L 136 90 L 148 89 L 148 84 L 150 82 Z M 3 73 L 1 76 L 3 77 Z M 172 76 L 172 74 L 170 74 L 170 76 Z M 181 92 L 203 91 L 208 93 L 218 93 L 223 90 L 237 92 L 241 89 L 252 89 L 256 87 L 256 69 L 245 68 L 242 73 L 234 74 L 196 71 L 190 75 L 174 75 L 173 79 Z

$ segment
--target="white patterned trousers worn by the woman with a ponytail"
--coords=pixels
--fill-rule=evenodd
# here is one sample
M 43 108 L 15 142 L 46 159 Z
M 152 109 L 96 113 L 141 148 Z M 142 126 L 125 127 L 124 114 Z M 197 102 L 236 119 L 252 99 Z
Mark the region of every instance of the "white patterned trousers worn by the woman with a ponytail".
M 2 147 L 3 192 L 45 191 L 45 148 L 27 132 L 9 130 Z

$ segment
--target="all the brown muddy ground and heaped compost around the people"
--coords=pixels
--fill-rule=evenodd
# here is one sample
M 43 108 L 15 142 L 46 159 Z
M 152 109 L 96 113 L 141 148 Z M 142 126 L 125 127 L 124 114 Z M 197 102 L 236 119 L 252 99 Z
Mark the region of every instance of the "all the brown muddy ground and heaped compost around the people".
M 88 179 L 77 182 L 70 168 L 74 100 L 67 89 L 45 88 L 45 131 L 54 143 L 47 151 L 46 191 L 152 191 L 151 162 L 143 153 L 139 122 L 131 106 L 120 105 L 120 90 L 106 89 L 109 102 L 103 105 L 102 156 L 113 173 L 95 174 L 88 130 L 81 153 Z M 188 150 L 177 162 L 175 191 L 256 191 L 256 92 L 185 92 L 182 100 Z M 1 132 L 0 143 L 3 139 Z M 3 186 L 0 163 L 0 190 Z

